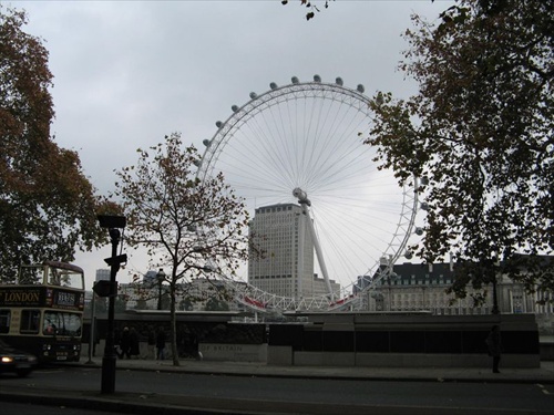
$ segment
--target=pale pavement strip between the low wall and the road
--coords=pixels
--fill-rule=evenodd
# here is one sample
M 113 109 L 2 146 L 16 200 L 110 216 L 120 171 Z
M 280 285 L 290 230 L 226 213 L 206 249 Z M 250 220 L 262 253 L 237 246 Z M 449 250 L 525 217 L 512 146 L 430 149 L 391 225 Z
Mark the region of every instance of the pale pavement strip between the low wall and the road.
M 83 365 L 102 365 L 102 357 Z M 275 366 L 265 363 L 214 362 L 182 360 L 179 366 L 173 361 L 117 360 L 117 370 L 183 372 L 235 376 L 273 376 L 302 378 L 348 378 L 366 381 L 430 381 L 430 382 L 497 382 L 554 384 L 554 362 L 541 362 L 536 369 L 502 369 L 499 374 L 483 367 L 351 367 L 351 366 Z

